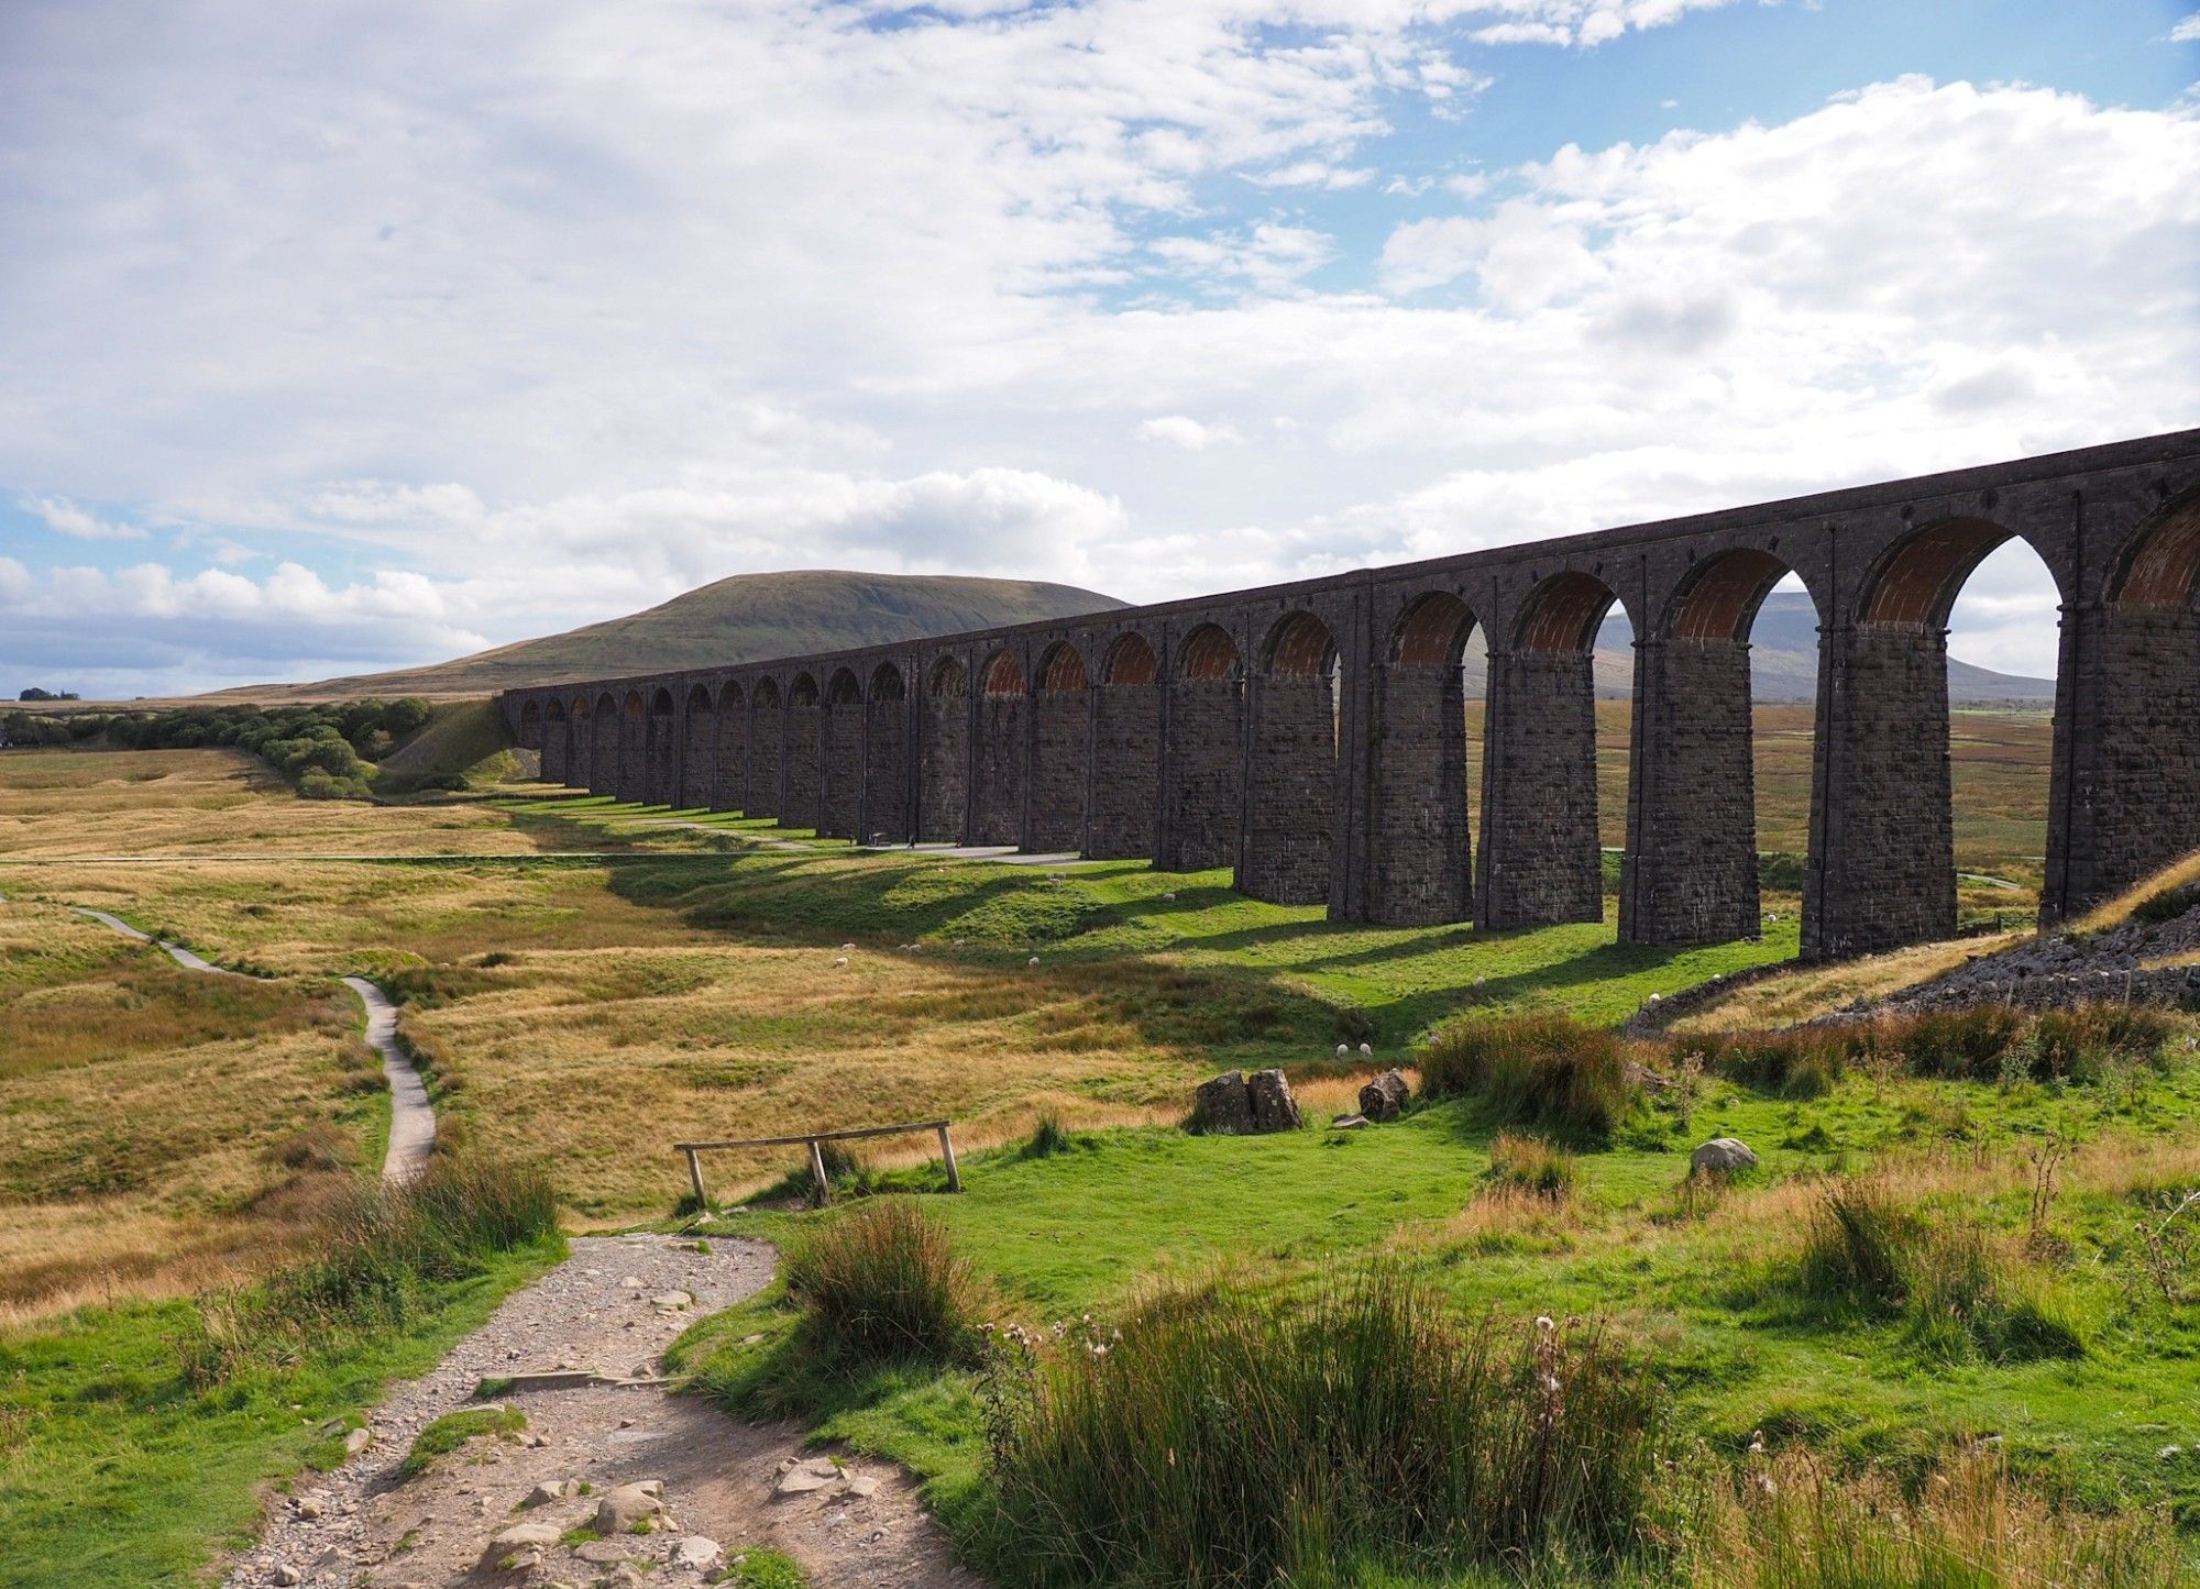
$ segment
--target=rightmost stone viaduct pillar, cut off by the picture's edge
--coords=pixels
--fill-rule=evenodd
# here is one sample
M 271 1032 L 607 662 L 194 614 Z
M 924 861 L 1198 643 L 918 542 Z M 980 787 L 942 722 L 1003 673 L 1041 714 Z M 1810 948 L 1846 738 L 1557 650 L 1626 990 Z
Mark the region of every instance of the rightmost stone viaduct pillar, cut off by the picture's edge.
M 2200 850 L 2200 612 L 2066 612 L 2059 682 L 2044 922 Z

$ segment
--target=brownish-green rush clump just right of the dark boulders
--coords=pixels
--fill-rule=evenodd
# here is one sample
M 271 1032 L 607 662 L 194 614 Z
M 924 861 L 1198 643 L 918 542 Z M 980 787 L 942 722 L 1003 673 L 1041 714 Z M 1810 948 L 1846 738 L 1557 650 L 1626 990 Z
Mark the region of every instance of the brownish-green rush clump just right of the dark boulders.
M 1430 1098 L 1481 1098 L 1507 1125 L 1606 1140 L 1635 1105 L 1621 1041 L 1564 1015 L 1459 1019 L 1421 1054 Z

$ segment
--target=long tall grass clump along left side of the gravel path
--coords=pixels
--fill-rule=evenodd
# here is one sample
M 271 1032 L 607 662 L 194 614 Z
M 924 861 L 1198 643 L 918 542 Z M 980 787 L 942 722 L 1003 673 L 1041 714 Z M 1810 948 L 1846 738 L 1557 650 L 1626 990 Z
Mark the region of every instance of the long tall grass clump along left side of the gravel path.
M 317 1224 L 310 1261 L 200 1298 L 176 1343 L 187 1380 L 207 1387 L 246 1367 L 290 1367 L 407 1323 L 429 1287 L 554 1237 L 557 1193 L 532 1164 L 438 1155 L 405 1186 L 341 1184 Z

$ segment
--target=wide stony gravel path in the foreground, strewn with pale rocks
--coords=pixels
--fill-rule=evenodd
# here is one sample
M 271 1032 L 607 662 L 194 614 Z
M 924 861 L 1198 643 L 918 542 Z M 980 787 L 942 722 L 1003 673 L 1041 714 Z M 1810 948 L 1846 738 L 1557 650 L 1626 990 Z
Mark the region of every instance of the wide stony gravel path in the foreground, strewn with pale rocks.
M 807 1453 L 792 1428 L 755 1428 L 653 1382 L 695 1314 L 772 1274 L 766 1246 L 708 1248 L 576 1239 L 563 1265 L 506 1298 L 436 1371 L 396 1387 L 370 1420 L 372 1444 L 341 1470 L 275 1497 L 229 1585 L 713 1582 L 757 1547 L 792 1556 L 816 1589 L 977 1585 L 900 1470 Z M 482 1380 L 530 1373 L 543 1382 L 521 1378 L 488 1402 L 524 1413 L 524 1428 L 475 1437 L 400 1481 L 427 1424 L 482 1406 Z

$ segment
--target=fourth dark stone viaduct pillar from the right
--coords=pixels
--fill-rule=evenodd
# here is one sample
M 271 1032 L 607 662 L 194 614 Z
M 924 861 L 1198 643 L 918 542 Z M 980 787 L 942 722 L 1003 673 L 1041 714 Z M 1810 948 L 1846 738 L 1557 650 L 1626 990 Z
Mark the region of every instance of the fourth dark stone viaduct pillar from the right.
M 1597 693 L 1588 651 L 1492 651 L 1483 927 L 1604 918 Z

